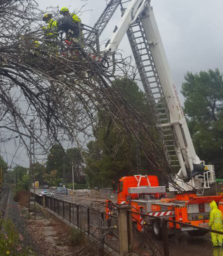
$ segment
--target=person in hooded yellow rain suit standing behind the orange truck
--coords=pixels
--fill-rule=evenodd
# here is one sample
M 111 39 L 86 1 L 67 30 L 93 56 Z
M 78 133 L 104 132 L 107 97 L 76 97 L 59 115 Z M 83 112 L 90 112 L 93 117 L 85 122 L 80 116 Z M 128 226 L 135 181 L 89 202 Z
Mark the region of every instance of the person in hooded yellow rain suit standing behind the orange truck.
M 211 211 L 210 211 L 209 227 L 212 230 L 222 232 L 223 231 L 222 230 L 222 213 L 220 210 L 217 209 L 217 204 L 215 203 L 215 201 L 212 201 L 210 203 L 210 209 Z M 210 232 L 210 236 L 211 236 L 212 247 L 222 246 L 223 237 L 221 234 Z

